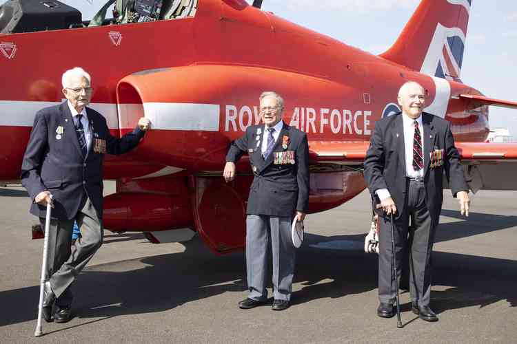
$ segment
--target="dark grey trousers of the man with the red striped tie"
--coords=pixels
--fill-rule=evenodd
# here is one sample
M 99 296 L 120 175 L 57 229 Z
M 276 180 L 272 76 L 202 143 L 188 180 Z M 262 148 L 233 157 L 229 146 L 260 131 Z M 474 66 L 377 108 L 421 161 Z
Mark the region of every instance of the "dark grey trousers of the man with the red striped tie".
M 409 294 L 418 305 L 429 305 L 431 296 L 431 253 L 436 226 L 425 203 L 423 182 L 407 182 L 407 204 L 394 220 L 395 259 L 400 281 L 404 249 L 409 248 Z M 409 219 L 411 229 L 409 230 Z M 395 278 L 392 265 L 392 231 L 388 216 L 381 218 L 379 233 L 378 298 L 383 303 L 395 302 Z

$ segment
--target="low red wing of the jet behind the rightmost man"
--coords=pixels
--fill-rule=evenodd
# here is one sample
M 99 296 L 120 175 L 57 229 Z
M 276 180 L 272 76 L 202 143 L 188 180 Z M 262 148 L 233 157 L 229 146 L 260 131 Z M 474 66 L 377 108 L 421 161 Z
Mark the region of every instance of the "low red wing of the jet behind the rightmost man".
M 361 169 L 369 142 L 310 141 L 309 155 L 316 166 L 345 165 Z M 456 142 L 472 192 L 517 190 L 517 143 Z M 444 183 L 447 186 L 447 181 Z

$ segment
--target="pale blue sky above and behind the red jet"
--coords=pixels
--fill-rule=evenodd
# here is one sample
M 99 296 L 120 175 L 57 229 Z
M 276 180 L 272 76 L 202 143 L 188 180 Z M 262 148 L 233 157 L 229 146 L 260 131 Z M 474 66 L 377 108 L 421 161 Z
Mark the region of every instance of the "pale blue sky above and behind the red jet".
M 107 0 L 61 0 L 90 19 Z M 5 2 L 0 0 L 0 3 Z M 252 2 L 249 0 L 248 2 Z M 263 10 L 379 54 L 396 40 L 419 0 L 263 0 Z M 517 3 L 472 0 L 461 78 L 491 98 L 517 101 Z M 517 136 L 517 110 L 490 107 L 492 128 Z

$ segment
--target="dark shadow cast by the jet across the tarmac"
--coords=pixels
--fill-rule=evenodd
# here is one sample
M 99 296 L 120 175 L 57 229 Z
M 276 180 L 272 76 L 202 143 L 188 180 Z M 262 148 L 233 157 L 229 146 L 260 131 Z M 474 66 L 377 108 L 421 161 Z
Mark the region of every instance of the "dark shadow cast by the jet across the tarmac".
M 294 283 L 301 283 L 302 289 L 293 293 L 292 304 L 376 289 L 376 255 L 366 255 L 358 249 L 325 250 L 309 246 L 363 238 L 364 235 L 323 237 L 307 233 L 304 246 L 298 251 L 294 276 Z M 108 319 L 123 314 L 161 312 L 223 292 L 246 290 L 243 252 L 216 257 L 199 237 L 185 243 L 185 248 L 181 253 L 87 268 L 72 289 L 76 297 L 74 313 L 83 319 Z M 517 261 L 448 252 L 434 252 L 433 259 L 434 284 L 451 286 L 445 291 L 432 292 L 432 307 L 438 314 L 470 306 L 482 308 L 498 301 L 506 301 L 509 307 L 517 305 Z M 0 292 L 0 304 L 10 310 L 1 313 L 0 326 L 36 319 L 38 296 L 39 286 Z M 409 309 L 409 305 L 403 307 Z

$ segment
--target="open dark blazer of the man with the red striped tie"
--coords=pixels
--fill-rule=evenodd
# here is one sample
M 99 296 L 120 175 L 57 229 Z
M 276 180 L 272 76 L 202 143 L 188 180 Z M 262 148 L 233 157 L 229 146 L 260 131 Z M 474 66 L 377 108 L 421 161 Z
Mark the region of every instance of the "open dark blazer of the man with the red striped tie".
M 375 191 L 388 189 L 400 215 L 403 211 L 406 195 L 404 128 L 401 112 L 376 122 L 374 134 L 365 158 L 365 180 L 372 197 Z M 424 184 L 427 207 L 434 224 L 443 203 L 443 173 L 449 180 L 452 194 L 468 191 L 463 175 L 460 155 L 454 147 L 450 123 L 432 114 L 422 114 Z M 431 166 L 432 151 L 443 149 L 442 164 Z

